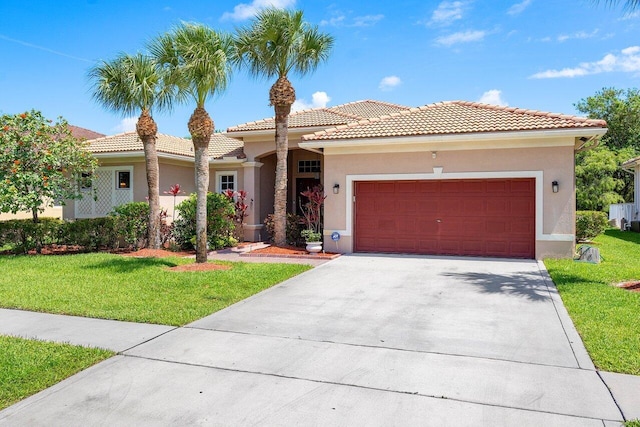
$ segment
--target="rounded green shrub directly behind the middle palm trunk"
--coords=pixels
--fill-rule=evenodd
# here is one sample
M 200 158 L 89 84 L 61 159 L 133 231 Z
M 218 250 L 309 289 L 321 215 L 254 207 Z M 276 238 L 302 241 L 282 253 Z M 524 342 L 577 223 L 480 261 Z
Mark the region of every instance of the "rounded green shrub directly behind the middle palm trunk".
M 176 210 L 179 217 L 173 222 L 175 241 L 183 249 L 193 249 L 196 239 L 196 195 L 191 194 Z M 235 207 L 222 194 L 207 194 L 207 242 L 210 249 L 233 246 L 237 240 L 233 238 L 233 216 Z

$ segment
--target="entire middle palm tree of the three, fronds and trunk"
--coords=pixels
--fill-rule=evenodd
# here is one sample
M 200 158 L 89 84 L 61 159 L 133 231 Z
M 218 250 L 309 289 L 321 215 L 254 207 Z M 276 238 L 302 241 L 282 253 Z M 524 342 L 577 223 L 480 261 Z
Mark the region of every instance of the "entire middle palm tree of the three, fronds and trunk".
M 214 126 L 204 105 L 209 96 L 227 87 L 233 40 L 205 25 L 182 23 L 152 40 L 149 50 L 179 93 L 186 93 L 196 103 L 188 124 L 195 151 L 196 262 L 206 262 L 208 151 Z

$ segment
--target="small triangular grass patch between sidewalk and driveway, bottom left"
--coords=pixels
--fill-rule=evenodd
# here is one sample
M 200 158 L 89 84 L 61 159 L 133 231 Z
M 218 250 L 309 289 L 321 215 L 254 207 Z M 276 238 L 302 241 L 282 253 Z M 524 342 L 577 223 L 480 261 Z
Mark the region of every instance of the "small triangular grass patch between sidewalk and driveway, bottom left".
M 0 410 L 113 354 L 95 348 L 0 336 Z

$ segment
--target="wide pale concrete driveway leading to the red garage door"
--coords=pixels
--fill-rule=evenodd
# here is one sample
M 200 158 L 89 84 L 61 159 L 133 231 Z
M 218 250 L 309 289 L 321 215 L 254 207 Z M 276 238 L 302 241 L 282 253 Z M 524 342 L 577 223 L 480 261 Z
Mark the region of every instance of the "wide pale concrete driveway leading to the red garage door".
M 619 425 L 535 261 L 343 256 L 0 412 L 0 425 Z

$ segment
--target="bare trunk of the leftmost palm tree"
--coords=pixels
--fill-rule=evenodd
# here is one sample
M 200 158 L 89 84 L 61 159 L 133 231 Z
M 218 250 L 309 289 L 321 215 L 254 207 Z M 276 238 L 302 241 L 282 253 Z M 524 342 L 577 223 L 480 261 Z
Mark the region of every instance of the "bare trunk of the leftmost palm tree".
M 143 109 L 136 123 L 136 131 L 144 147 L 144 159 L 147 170 L 147 189 L 149 198 L 148 246 L 160 248 L 160 184 L 158 173 L 158 154 L 156 152 L 156 134 L 158 125 L 149 110 Z

